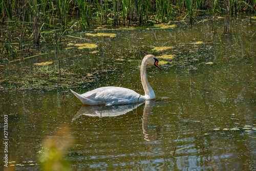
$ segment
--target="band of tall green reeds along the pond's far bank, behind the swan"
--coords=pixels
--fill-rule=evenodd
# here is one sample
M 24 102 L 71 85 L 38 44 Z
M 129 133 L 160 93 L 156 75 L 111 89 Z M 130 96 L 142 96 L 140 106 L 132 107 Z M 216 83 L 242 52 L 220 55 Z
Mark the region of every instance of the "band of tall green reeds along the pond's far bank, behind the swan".
M 20 22 L 24 30 L 31 27 L 31 37 L 38 45 L 40 33 L 48 29 L 67 29 L 74 25 L 84 29 L 93 22 L 98 25 L 168 23 L 186 16 L 192 25 L 202 12 L 226 15 L 227 31 L 229 17 L 241 13 L 251 15 L 255 11 L 256 0 L 2 0 L 0 23 Z M 77 20 L 70 22 L 69 18 L 73 17 Z

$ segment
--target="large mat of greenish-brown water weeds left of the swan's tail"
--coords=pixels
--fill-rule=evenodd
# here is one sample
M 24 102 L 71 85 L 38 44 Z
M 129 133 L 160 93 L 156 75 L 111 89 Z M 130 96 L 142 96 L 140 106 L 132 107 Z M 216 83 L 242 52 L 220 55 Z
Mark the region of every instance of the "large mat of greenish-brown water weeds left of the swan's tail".
M 78 86 L 88 86 L 95 81 L 95 76 L 89 73 L 75 73 L 67 68 L 61 68 L 61 77 L 56 65 L 35 66 L 31 73 L 23 77 L 6 76 L 0 78 L 3 89 L 69 89 Z

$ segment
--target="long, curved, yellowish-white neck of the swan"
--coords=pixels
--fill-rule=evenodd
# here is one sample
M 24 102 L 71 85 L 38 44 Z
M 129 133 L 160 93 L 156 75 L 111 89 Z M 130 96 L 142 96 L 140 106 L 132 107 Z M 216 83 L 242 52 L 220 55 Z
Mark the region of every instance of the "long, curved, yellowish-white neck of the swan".
M 147 58 L 144 58 L 142 60 L 141 68 L 140 68 L 140 77 L 141 77 L 141 83 L 145 92 L 146 99 L 148 100 L 148 99 L 154 99 L 156 96 L 152 87 L 150 86 L 150 83 L 148 83 L 148 80 L 147 80 L 147 74 L 146 74 L 147 61 L 146 60 Z

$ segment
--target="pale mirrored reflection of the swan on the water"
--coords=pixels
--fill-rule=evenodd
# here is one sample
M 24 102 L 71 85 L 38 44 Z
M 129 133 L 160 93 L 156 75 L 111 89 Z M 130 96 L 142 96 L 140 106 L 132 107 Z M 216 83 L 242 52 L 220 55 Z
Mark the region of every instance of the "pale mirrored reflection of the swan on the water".
M 97 105 L 82 105 L 77 114 L 73 117 L 72 121 L 80 117 L 81 115 L 96 116 L 96 117 L 112 117 L 126 114 L 132 110 L 135 110 L 138 106 L 144 102 L 134 103 L 134 104 L 122 104 L 122 105 L 111 105 L 111 106 L 97 106 Z M 150 129 L 148 125 L 150 124 L 150 113 L 155 105 L 155 100 L 145 101 L 145 106 L 143 110 L 142 118 L 142 129 L 144 134 L 144 139 L 146 141 L 155 141 L 158 139 L 156 133 L 150 134 Z

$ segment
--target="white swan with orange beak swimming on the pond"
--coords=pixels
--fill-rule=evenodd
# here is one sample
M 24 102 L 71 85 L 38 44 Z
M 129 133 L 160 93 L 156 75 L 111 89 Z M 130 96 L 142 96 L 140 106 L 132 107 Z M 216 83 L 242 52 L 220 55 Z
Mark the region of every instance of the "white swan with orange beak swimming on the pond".
M 158 69 L 158 59 L 154 55 L 146 55 L 141 63 L 140 77 L 145 95 L 141 96 L 133 90 L 121 87 L 101 87 L 84 94 L 78 94 L 71 90 L 76 97 L 78 97 L 83 104 L 87 105 L 115 105 L 135 103 L 137 101 L 145 101 L 155 99 L 155 93 L 148 83 L 146 74 L 147 63 L 154 64 Z M 138 99 L 139 98 L 139 99 Z

